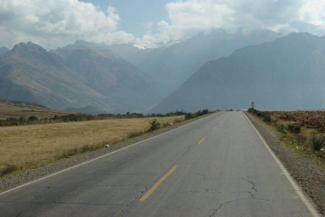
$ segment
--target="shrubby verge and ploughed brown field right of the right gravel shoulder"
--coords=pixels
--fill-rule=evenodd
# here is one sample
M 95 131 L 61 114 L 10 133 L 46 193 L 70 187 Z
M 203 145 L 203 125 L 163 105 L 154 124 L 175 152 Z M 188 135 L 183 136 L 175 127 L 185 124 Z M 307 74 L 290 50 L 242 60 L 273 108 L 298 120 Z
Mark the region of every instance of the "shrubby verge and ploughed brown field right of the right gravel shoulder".
M 295 154 L 325 168 L 324 126 L 313 121 L 323 123 L 318 111 L 259 111 L 250 108 L 248 112 L 268 124 Z M 317 114 L 317 118 L 310 114 Z M 325 119 L 325 116 L 322 118 Z

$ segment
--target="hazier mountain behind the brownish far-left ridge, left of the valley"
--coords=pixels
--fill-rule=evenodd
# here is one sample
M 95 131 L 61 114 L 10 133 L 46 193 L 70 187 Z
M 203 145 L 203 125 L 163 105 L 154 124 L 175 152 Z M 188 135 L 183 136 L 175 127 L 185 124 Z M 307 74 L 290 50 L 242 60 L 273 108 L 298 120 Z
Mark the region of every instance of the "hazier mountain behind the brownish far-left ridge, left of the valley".
M 144 111 L 158 103 L 153 81 L 125 59 L 108 49 L 68 45 L 57 49 L 65 64 L 87 78 L 87 85 L 110 96 L 119 105 L 115 111 Z

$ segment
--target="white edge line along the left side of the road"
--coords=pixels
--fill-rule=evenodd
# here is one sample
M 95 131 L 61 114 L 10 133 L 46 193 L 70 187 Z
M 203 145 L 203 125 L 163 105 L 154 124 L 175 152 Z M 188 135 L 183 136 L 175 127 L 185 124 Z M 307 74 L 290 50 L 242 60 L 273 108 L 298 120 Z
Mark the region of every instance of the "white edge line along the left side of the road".
M 212 115 L 212 114 L 211 114 L 211 115 Z M 210 115 L 209 115 L 209 116 L 210 116 Z M 207 116 L 207 117 L 209 117 L 209 116 Z M 12 189 L 7 190 L 7 191 L 0 192 L 0 195 L 4 195 L 4 194 L 9 193 L 9 192 L 11 192 L 11 191 L 15 191 L 15 190 L 17 190 L 17 189 L 19 189 L 19 188 L 22 188 L 22 187 L 25 187 L 25 186 L 27 186 L 27 185 L 33 184 L 33 183 L 35 183 L 35 182 L 37 182 L 37 181 L 45 180 L 45 179 L 47 179 L 47 178 L 50 178 L 50 177 L 55 176 L 55 175 L 57 175 L 57 174 L 63 173 L 63 172 L 68 171 L 68 170 L 71 170 L 71 169 L 73 169 L 73 168 L 76 168 L 76 167 L 78 167 L 78 166 L 84 165 L 84 164 L 86 164 L 86 163 L 90 163 L 90 162 L 96 161 L 96 160 L 98 160 L 98 159 L 104 158 L 104 157 L 106 157 L 106 156 L 108 156 L 108 155 L 114 154 L 114 153 L 116 153 L 116 152 L 118 152 L 118 151 L 122 151 L 122 150 L 124 150 L 124 149 L 126 149 L 126 148 L 129 148 L 129 147 L 133 146 L 133 145 L 138 145 L 138 144 L 140 144 L 140 143 L 144 143 L 144 142 L 146 142 L 146 141 L 148 141 L 148 140 L 151 140 L 151 139 L 154 139 L 154 138 L 156 138 L 156 137 L 162 136 L 162 135 L 164 135 L 164 134 L 166 134 L 166 133 L 169 133 L 169 132 L 172 132 L 172 131 L 174 131 L 174 130 L 176 130 L 176 129 L 180 129 L 181 127 L 185 127 L 185 126 L 188 125 L 188 124 L 194 123 L 194 122 L 196 122 L 196 121 L 202 120 L 202 119 L 207 118 L 207 117 L 200 118 L 200 119 L 198 119 L 198 120 L 195 120 L 195 121 L 193 121 L 193 122 L 189 122 L 189 123 L 187 123 L 187 124 L 185 124 L 185 125 L 182 125 L 182 126 L 180 126 L 180 127 L 175 128 L 175 129 L 171 129 L 171 130 L 169 130 L 169 131 L 167 131 L 167 132 L 164 132 L 164 133 L 158 134 L 158 135 L 156 135 L 156 136 L 150 137 L 150 138 L 148 138 L 148 139 L 145 139 L 145 140 L 139 141 L 139 142 L 134 143 L 134 144 L 132 144 L 132 145 L 127 145 L 126 147 L 120 148 L 120 149 L 118 149 L 118 150 L 116 150 L 116 151 L 113 151 L 113 152 L 109 152 L 109 153 L 107 153 L 107 154 L 105 154 L 105 155 L 99 156 L 99 157 L 94 158 L 94 159 L 91 159 L 91 160 L 89 160 L 89 161 L 86 161 L 86 162 L 83 162 L 83 163 L 80 163 L 80 164 L 74 165 L 74 166 L 69 167 L 69 168 L 64 169 L 64 170 L 60 170 L 60 171 L 58 171 L 58 172 L 55 172 L 55 173 L 53 173 L 53 174 L 51 174 L 51 175 L 48 175 L 48 176 L 45 176 L 45 177 L 39 178 L 39 179 L 37 179 L 37 180 L 27 182 L 27 183 L 25 183 L 25 184 L 19 185 L 19 186 L 15 187 L 15 188 L 12 188 Z

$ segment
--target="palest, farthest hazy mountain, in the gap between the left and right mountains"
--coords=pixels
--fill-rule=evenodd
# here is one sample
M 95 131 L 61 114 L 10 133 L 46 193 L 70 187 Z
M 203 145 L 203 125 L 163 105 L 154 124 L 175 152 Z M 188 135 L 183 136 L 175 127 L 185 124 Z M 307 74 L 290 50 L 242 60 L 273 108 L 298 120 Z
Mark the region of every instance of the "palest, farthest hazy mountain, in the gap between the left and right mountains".
M 169 47 L 140 50 L 132 44 L 122 44 L 108 48 L 144 73 L 156 78 L 162 83 L 164 94 L 167 96 L 205 62 L 228 56 L 235 49 L 272 41 L 281 36 L 283 35 L 271 31 L 256 31 L 249 35 L 212 31 Z

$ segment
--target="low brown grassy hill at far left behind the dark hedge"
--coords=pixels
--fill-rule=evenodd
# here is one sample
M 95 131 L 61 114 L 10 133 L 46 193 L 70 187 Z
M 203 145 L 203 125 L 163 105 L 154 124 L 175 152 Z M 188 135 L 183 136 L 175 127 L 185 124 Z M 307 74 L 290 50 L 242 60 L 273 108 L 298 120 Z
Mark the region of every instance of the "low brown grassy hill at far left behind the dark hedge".
M 6 118 L 19 118 L 21 116 L 37 118 L 53 118 L 55 115 L 62 116 L 72 114 L 74 112 L 54 111 L 46 107 L 33 103 L 12 102 L 0 99 L 0 120 Z

